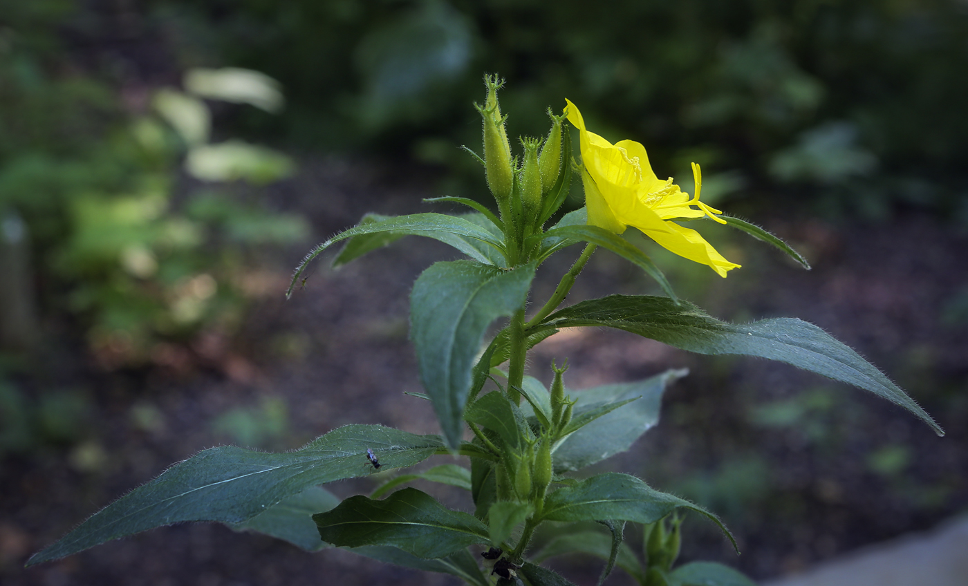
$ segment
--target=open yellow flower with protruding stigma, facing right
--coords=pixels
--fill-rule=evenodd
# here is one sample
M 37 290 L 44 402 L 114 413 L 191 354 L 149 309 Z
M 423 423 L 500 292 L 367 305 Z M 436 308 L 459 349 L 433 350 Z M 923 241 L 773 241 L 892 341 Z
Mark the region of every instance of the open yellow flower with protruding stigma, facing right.
M 582 183 L 591 225 L 616 234 L 634 226 L 663 248 L 709 265 L 720 277 L 726 277 L 727 271 L 740 267 L 723 258 L 699 232 L 672 221 L 709 216 L 726 223 L 715 216 L 722 212 L 699 201 L 702 174 L 698 164 L 692 163 L 696 196 L 690 199 L 688 193 L 673 184 L 672 177 L 662 181 L 655 176 L 642 144 L 633 140 L 612 144 L 598 134 L 588 132 L 582 113 L 570 100 L 565 102 L 568 103 L 565 107 L 568 122 L 581 135 Z

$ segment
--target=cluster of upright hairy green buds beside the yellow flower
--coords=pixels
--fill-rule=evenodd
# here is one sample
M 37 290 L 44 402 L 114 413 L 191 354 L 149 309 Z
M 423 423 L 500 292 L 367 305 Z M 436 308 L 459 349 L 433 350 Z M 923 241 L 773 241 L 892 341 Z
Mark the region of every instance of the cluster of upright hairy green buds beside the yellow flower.
M 507 116 L 501 115 L 498 90 L 503 80 L 496 75 L 485 75 L 487 99 L 484 105 L 474 104 L 484 119 L 484 168 L 487 185 L 498 202 L 500 220 L 508 242 L 521 246 L 526 239 L 541 230 L 561 204 L 567 186 L 566 161 L 562 156 L 561 122 L 548 109 L 551 131 L 545 138 L 522 137 L 524 157 L 511 154 L 511 143 L 505 125 Z M 565 189 L 562 192 L 562 188 Z

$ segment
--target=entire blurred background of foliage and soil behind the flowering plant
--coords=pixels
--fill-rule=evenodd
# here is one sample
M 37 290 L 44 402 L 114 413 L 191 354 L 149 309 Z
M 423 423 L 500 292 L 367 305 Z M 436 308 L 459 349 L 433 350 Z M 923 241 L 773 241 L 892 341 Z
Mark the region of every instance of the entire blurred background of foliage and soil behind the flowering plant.
M 220 68 L 278 86 L 206 93 Z M 0 0 L 0 581 L 450 583 L 214 525 L 22 565 L 213 445 L 438 430 L 403 395 L 419 391 L 407 295 L 452 251 L 410 238 L 283 292 L 305 251 L 366 212 L 487 200 L 458 149 L 479 149 L 483 73 L 507 79 L 512 135 L 547 132 L 567 97 L 684 190 L 700 162 L 705 200 L 814 269 L 716 226 L 704 234 L 743 265 L 727 279 L 630 240 L 718 318 L 820 325 L 949 431 L 787 366 L 616 332 L 550 338 L 529 373 L 548 382 L 568 358 L 576 389 L 690 368 L 662 423 L 599 465 L 721 514 L 743 551 L 690 518 L 683 558 L 768 578 L 964 512 L 965 72 L 962 0 Z M 537 300 L 569 254 L 539 272 Z M 653 289 L 602 251 L 568 303 Z M 579 583 L 600 569 L 557 567 Z

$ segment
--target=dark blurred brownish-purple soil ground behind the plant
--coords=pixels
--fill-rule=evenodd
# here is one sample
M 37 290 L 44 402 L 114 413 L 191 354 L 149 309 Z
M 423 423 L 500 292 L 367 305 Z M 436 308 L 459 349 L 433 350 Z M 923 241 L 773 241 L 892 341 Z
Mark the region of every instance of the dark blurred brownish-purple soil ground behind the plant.
M 421 210 L 420 198 L 434 194 L 428 180 L 412 174 L 401 180 L 392 169 L 318 161 L 275 190 L 272 204 L 307 214 L 321 240 L 367 211 Z M 547 381 L 553 357 L 569 359 L 566 382 L 575 389 L 670 367 L 692 372 L 667 394 L 662 423 L 632 451 L 598 468 L 639 475 L 720 513 L 743 554 L 737 557 L 714 530 L 690 518 L 683 559 L 720 560 L 756 578 L 796 571 L 962 511 L 968 503 L 968 328 L 958 300 L 964 305 L 968 296 L 968 238 L 914 213 L 875 225 L 803 220 L 783 210 L 749 215 L 800 247 L 815 269 L 802 271 L 779 253 L 730 235 L 718 246 L 743 268 L 725 280 L 704 267 L 677 268 L 683 263 L 659 258 L 672 267 L 669 276 L 683 295 L 722 319 L 789 315 L 820 325 L 909 390 L 948 436 L 936 437 L 886 401 L 792 367 L 691 356 L 620 332 L 566 331 L 536 349 L 532 374 Z M 260 445 L 272 449 L 298 447 L 349 423 L 438 430 L 429 405 L 404 395 L 420 391 L 407 339 L 408 288 L 430 263 L 455 253 L 409 238 L 338 272 L 320 263 L 286 302 L 288 270 L 304 251 L 261 259 L 264 270 L 252 278 L 269 295 L 255 302 L 239 336 L 208 334 L 174 351 L 167 366 L 105 373 L 79 350 L 63 350 L 70 342 L 57 346 L 65 356 L 50 363 L 55 366 L 45 376 L 89 390 L 95 427 L 79 445 L 3 459 L 0 582 L 455 583 L 347 552 L 305 553 L 208 524 L 163 528 L 22 569 L 31 552 L 167 464 L 232 442 L 230 428 L 213 425 L 232 408 L 259 413 L 265 397 L 285 401 L 285 433 L 262 434 Z M 539 272 L 536 299 L 550 293 L 578 251 Z M 599 252 L 567 303 L 643 292 L 653 286 L 634 267 Z M 29 377 L 21 382 L 30 388 Z M 372 485 L 330 488 L 348 496 Z M 463 496 L 421 487 L 452 506 L 469 507 Z M 636 536 L 629 540 L 635 544 Z M 599 568 L 578 558 L 560 566 L 582 584 L 593 583 Z M 610 580 L 630 583 L 620 574 Z

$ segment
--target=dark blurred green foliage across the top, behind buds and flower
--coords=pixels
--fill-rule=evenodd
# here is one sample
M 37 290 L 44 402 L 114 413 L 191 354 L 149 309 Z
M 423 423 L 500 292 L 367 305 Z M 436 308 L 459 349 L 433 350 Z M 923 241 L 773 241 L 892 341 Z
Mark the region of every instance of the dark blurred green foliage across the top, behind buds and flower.
M 508 78 L 511 132 L 581 105 L 653 165 L 871 218 L 901 202 L 968 217 L 968 5 L 951 0 L 154 0 L 205 31 L 183 55 L 280 79 L 297 143 L 473 168 L 467 107 Z M 529 112 L 529 114 L 528 114 Z M 524 114 L 522 114 L 524 113 Z M 265 117 L 240 120 L 267 130 Z M 442 148 L 441 145 L 450 145 Z M 789 186 L 784 188 L 783 186 Z M 753 187 L 755 186 L 755 187 Z M 801 186 L 801 187 L 798 187 Z M 820 189 L 818 189 L 818 187 Z M 808 188 L 808 189 L 804 189 Z

